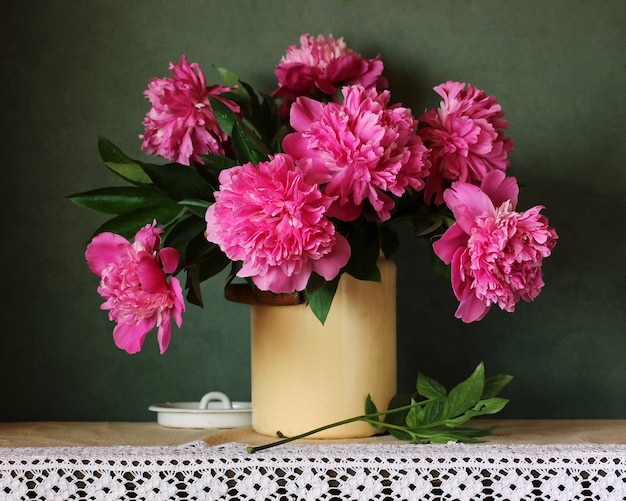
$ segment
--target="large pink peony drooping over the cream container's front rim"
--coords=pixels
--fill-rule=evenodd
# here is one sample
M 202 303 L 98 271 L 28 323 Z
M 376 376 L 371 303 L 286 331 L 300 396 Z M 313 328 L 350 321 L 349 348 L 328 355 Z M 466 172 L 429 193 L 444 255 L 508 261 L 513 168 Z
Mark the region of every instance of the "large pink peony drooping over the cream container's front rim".
M 243 261 L 238 276 L 282 293 L 304 290 L 313 272 L 326 280 L 338 275 L 350 246 L 326 217 L 332 199 L 316 177 L 285 154 L 220 173 L 206 212 L 207 240 Z

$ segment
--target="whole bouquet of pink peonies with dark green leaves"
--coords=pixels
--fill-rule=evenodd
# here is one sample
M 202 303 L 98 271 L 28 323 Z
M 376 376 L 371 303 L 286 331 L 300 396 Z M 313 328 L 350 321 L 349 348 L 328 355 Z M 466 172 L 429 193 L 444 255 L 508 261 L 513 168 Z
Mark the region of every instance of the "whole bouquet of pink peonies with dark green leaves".
M 169 163 L 101 138 L 105 165 L 129 185 L 70 197 L 114 215 L 86 259 L 120 348 L 139 351 L 157 327 L 163 353 L 184 296 L 202 305 L 200 283 L 228 267 L 228 281 L 303 291 L 324 322 L 343 273 L 380 280 L 376 261 L 397 249 L 401 221 L 449 265 L 463 321 L 539 294 L 557 235 L 542 207 L 516 210 L 513 141 L 493 96 L 446 82 L 439 108 L 415 117 L 393 103 L 379 56 L 321 35 L 287 49 L 269 94 L 221 68 L 222 85 L 207 85 L 185 56 L 170 70 L 145 91 L 141 136 Z

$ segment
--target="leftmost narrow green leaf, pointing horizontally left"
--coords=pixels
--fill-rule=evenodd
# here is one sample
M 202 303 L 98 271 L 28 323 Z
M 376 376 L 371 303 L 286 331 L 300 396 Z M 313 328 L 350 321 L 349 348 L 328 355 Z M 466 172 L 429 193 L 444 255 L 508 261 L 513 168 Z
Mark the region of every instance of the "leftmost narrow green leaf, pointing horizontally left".
M 68 197 L 76 205 L 104 212 L 123 214 L 142 207 L 154 207 L 171 202 L 150 186 L 113 186 L 76 193 Z

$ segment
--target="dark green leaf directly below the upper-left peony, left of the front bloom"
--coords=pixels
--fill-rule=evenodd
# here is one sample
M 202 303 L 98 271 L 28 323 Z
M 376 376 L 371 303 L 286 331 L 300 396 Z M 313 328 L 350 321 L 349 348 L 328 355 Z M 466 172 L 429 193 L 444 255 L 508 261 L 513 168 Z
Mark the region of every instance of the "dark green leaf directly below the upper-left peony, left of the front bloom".
M 173 200 L 213 201 L 213 188 L 192 166 L 143 164 L 143 168 L 159 190 Z

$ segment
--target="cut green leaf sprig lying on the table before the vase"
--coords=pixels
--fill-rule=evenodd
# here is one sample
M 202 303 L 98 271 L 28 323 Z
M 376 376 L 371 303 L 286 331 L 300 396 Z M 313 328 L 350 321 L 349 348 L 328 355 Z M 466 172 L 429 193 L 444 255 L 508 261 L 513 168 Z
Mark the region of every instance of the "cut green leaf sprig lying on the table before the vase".
M 497 395 L 511 382 L 512 376 L 501 374 L 485 379 L 482 362 L 464 381 L 450 392 L 434 379 L 419 374 L 417 392 L 409 395 L 396 395 L 389 408 L 379 412 L 371 397 L 365 400 L 365 414 L 331 423 L 302 433 L 295 437 L 283 438 L 270 444 L 248 447 L 249 453 L 306 438 L 321 431 L 344 424 L 364 421 L 375 428 L 383 429 L 400 440 L 414 444 L 480 442 L 481 437 L 491 435 L 496 427 L 461 427 L 474 417 L 496 414 L 508 403 Z M 418 400 L 423 397 L 423 400 Z M 384 421 L 381 418 L 385 418 Z

